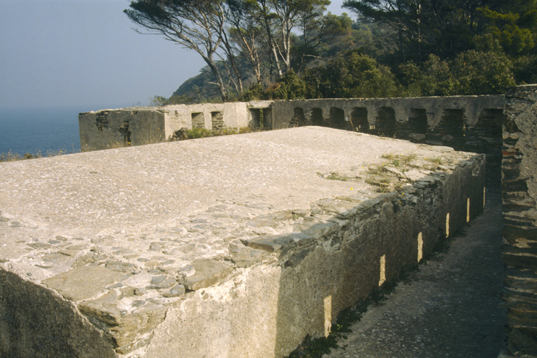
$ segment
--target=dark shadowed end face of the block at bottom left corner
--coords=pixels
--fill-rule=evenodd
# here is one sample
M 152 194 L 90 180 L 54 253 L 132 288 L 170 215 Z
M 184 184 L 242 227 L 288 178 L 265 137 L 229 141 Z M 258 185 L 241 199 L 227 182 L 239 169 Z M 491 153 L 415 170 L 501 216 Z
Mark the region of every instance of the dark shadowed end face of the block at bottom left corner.
M 0 288 L 0 357 L 117 357 L 72 301 L 2 269 Z

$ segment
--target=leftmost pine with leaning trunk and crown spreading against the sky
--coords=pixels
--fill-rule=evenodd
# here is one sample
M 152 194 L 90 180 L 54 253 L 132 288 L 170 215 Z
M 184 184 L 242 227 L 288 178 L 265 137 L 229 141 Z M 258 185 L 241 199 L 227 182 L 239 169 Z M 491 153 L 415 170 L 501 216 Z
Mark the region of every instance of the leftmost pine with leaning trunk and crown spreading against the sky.
M 211 0 L 138 0 L 124 10 L 129 19 L 150 34 L 159 34 L 201 55 L 215 76 L 222 101 L 227 101 L 224 84 L 215 55 L 224 38 L 225 10 L 223 1 Z

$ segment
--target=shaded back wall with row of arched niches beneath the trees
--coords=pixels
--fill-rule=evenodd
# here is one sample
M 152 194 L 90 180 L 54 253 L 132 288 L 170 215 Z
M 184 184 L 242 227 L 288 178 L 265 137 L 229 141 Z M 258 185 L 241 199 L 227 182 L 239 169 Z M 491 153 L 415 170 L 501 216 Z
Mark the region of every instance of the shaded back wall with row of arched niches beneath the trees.
M 499 187 L 503 96 L 274 101 L 274 129 L 317 125 L 487 155 Z

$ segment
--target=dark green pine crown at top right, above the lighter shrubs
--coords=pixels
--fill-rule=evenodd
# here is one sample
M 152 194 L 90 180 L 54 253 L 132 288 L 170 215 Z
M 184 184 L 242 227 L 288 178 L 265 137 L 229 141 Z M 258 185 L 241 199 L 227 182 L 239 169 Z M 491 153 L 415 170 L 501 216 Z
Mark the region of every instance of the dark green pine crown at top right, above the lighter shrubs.
M 401 63 L 473 50 L 474 38 L 484 28 L 480 9 L 494 1 L 498 0 L 345 0 L 344 6 L 392 29 L 399 50 L 394 62 Z

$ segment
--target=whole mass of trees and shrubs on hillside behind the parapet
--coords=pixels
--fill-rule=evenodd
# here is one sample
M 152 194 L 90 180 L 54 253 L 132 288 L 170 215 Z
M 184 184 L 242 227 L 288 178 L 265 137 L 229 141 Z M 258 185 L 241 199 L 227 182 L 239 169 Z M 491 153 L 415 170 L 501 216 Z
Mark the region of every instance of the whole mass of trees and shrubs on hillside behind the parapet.
M 185 1 L 133 3 L 147 2 Z M 354 20 L 326 13 L 327 0 L 208 3 L 198 11 L 220 19 L 214 66 L 155 104 L 501 94 L 537 82 L 537 0 L 347 0 Z

